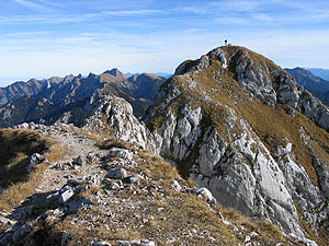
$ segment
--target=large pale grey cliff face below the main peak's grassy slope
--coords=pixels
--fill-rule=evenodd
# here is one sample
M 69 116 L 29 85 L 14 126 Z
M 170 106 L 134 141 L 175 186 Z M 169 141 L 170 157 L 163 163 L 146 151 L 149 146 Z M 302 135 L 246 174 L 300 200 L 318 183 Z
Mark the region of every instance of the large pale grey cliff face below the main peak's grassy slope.
M 231 114 L 228 124 L 234 128 L 237 115 Z M 163 156 L 174 160 L 198 187 L 208 187 L 223 206 L 304 236 L 283 172 L 248 124 L 240 122 L 243 133 L 237 140 L 226 140 L 206 126 L 200 107 L 186 105 L 178 115 L 169 112 L 158 130 Z

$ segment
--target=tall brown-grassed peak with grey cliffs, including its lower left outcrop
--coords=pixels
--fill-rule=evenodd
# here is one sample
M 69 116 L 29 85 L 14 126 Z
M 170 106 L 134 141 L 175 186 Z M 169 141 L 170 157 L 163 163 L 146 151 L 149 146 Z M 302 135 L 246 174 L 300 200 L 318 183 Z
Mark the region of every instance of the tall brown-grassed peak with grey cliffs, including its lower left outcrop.
M 211 208 L 217 201 L 271 221 L 297 245 L 328 245 L 329 109 L 268 58 L 223 46 L 184 61 L 159 85 L 141 120 L 106 90 L 97 91 L 83 109 L 83 132 L 111 133 L 110 151 L 132 144 L 161 155 L 184 180 L 211 192 Z M 18 126 L 31 127 L 48 131 Z M 129 164 L 116 161 L 111 168 L 124 175 L 120 168 Z

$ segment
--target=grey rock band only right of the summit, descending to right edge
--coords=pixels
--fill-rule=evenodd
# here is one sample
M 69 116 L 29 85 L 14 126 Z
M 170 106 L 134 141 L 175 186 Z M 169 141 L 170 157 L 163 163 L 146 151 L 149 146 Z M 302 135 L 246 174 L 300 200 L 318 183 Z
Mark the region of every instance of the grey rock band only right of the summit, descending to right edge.
M 256 66 L 246 50 L 236 62 L 235 72 L 238 81 L 261 102 L 271 107 L 276 103 L 287 104 L 324 129 L 329 129 L 329 109 L 298 85 L 287 72 L 279 69 L 270 70 L 265 63 Z

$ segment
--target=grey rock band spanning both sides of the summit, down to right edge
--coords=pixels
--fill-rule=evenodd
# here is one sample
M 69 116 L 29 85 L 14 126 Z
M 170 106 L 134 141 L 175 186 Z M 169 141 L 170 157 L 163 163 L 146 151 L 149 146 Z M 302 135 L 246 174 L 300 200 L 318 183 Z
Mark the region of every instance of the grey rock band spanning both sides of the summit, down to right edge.
M 287 72 L 279 67 L 269 68 L 265 62 L 256 63 L 247 49 L 239 49 L 234 57 L 229 57 L 220 47 L 213 49 L 196 61 L 181 63 L 175 74 L 202 72 L 211 66 L 211 59 L 214 58 L 222 62 L 223 68 L 231 65 L 229 70 L 236 74 L 238 82 L 262 103 L 270 107 L 274 107 L 277 103 L 287 104 L 320 127 L 329 129 L 329 109 L 317 97 L 298 85 Z

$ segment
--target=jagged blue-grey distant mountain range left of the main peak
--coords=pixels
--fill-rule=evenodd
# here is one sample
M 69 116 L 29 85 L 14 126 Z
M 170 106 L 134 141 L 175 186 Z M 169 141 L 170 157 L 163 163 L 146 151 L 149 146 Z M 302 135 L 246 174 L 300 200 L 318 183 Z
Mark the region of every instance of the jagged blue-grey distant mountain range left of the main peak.
M 141 116 L 166 78 L 149 73 L 127 78 L 117 69 L 83 78 L 72 74 L 48 80 L 16 82 L 0 89 L 0 127 L 21 122 L 82 124 L 86 109 L 100 95 L 116 95 L 129 102 Z

